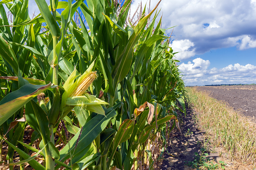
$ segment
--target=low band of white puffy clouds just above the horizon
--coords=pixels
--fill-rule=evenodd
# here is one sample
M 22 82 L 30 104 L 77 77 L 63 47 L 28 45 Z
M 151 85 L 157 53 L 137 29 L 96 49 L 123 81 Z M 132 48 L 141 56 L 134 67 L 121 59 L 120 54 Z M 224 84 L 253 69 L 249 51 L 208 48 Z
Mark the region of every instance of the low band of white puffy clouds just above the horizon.
M 227 67 L 209 69 L 210 61 L 196 58 L 179 66 L 186 85 L 251 84 L 256 81 L 256 66 L 236 63 Z

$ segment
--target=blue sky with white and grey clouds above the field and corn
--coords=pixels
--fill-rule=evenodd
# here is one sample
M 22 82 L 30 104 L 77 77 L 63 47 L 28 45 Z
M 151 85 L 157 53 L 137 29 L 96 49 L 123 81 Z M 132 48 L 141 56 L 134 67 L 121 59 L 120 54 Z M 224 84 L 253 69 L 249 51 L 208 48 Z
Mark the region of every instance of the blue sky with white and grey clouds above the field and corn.
M 133 0 L 131 15 L 149 1 Z M 34 0 L 29 9 L 40 12 Z M 178 25 L 170 47 L 186 85 L 256 83 L 256 0 L 162 0 L 160 9 L 163 28 Z

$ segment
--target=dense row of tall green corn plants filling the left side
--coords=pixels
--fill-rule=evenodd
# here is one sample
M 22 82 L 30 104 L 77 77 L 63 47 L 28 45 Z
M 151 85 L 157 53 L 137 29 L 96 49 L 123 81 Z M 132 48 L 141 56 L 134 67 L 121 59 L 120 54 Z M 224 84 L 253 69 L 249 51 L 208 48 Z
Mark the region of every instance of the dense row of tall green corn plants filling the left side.
M 0 2 L 0 168 L 156 167 L 186 114 L 160 2 L 133 26 L 132 0 L 35 1 L 33 19 L 28 0 Z

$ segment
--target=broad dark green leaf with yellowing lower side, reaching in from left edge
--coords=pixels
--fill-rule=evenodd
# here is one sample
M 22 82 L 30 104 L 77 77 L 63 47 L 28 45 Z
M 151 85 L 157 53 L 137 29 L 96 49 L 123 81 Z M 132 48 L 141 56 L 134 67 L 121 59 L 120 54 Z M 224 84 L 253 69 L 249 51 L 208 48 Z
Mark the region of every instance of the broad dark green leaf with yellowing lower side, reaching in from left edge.
M 0 125 L 3 124 L 9 117 L 11 117 L 20 107 L 24 106 L 28 101 L 36 97 L 39 93 L 48 89 L 48 85 L 23 85 L 20 89 L 7 94 L 0 101 Z

